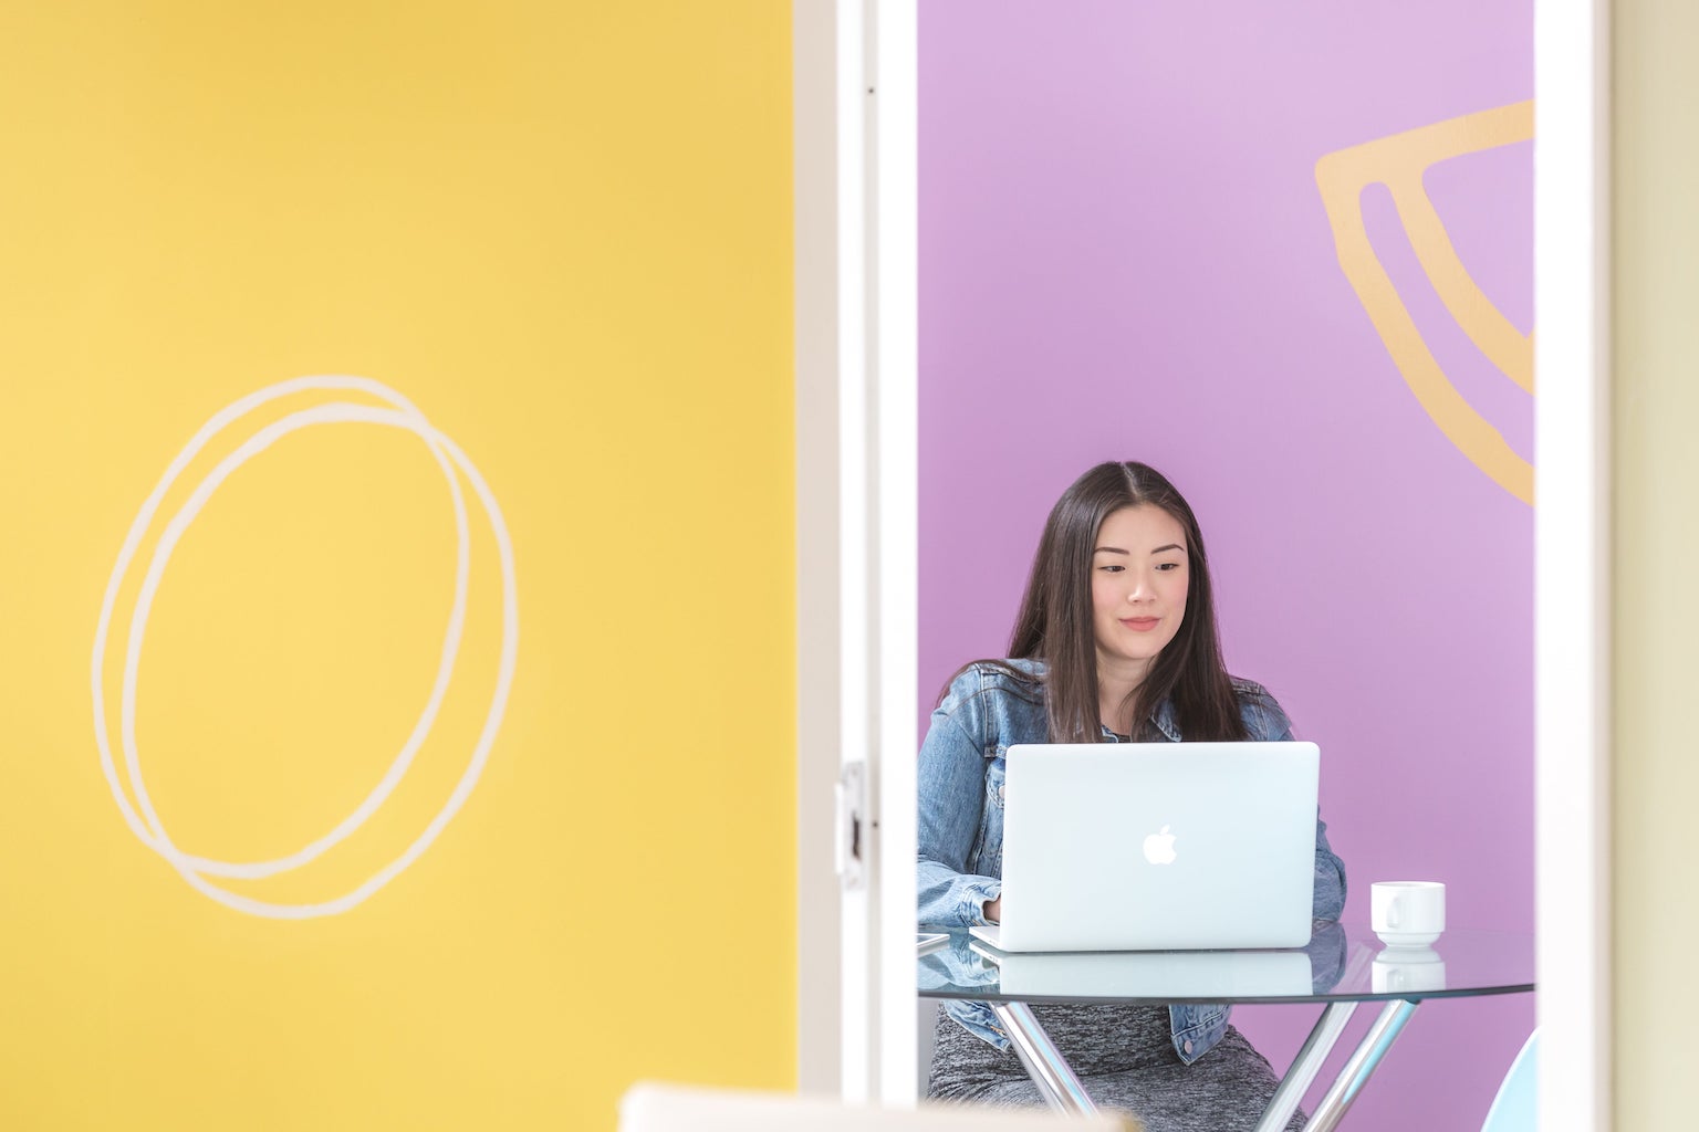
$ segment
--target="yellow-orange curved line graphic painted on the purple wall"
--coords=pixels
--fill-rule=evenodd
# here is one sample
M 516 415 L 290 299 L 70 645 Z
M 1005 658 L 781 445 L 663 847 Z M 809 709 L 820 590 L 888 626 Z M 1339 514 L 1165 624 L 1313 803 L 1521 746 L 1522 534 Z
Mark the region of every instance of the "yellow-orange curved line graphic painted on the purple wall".
M 1427 273 L 1451 317 L 1505 377 L 1534 392 L 1534 338 L 1522 334 L 1482 294 L 1451 236 L 1434 210 L 1422 173 L 1436 161 L 1509 146 L 1534 136 L 1534 104 L 1466 114 L 1419 129 L 1378 137 L 1322 156 L 1315 163 L 1315 183 L 1322 190 L 1327 222 L 1334 229 L 1339 266 L 1368 311 L 1386 351 L 1403 373 L 1410 392 L 1453 445 L 1500 487 L 1534 502 L 1534 467 L 1519 457 L 1504 436 L 1463 399 L 1446 377 L 1432 350 L 1422 339 L 1398 289 L 1381 266 L 1363 224 L 1363 190 L 1386 185 L 1398 221 L 1410 236 L 1415 258 Z

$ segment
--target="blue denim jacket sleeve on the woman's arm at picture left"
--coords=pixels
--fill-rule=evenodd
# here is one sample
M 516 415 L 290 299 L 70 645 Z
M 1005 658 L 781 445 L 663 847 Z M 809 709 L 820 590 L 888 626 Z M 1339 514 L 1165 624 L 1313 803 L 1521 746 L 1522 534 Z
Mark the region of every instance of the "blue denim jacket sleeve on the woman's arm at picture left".
M 919 922 L 972 927 L 985 923 L 985 901 L 1002 893 L 996 876 L 975 876 L 984 825 L 987 771 L 985 711 L 977 670 L 963 672 L 933 711 L 921 743 L 917 903 Z

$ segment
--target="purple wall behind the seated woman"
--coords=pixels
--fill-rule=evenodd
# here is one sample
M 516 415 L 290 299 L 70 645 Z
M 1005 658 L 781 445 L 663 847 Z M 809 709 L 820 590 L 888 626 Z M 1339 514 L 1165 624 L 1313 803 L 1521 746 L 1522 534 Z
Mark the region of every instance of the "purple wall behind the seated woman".
M 1371 881 L 1442 879 L 1451 923 L 1532 930 L 1532 511 L 1407 387 L 1315 180 L 1532 87 L 1526 0 L 921 7 L 923 721 L 1002 655 L 1062 489 L 1145 460 L 1203 523 L 1230 667 L 1322 747 L 1346 918 Z M 1532 144 L 1424 185 L 1531 331 Z M 1531 458 L 1531 397 L 1446 312 L 1388 192 L 1361 204 L 1446 377 Z M 1315 1012 L 1235 1018 L 1284 1066 Z M 1532 1022 L 1531 996 L 1429 1003 L 1352 1122 L 1478 1127 Z

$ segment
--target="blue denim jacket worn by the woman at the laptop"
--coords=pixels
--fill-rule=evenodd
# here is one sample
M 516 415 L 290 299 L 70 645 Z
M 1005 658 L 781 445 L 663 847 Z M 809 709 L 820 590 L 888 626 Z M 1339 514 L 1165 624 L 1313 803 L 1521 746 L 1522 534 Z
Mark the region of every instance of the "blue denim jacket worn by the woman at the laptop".
M 1008 662 L 1031 679 L 1016 679 L 992 665 L 975 664 L 958 675 L 933 711 L 919 767 L 919 922 L 970 927 L 985 923 L 985 903 L 1002 893 L 1002 777 L 1009 747 L 1043 743 L 1048 737 L 1043 704 L 1043 665 Z M 1239 711 L 1252 742 L 1291 738 L 1291 721 L 1250 681 L 1233 679 Z M 1155 731 L 1171 742 L 1181 733 L 1174 706 L 1157 704 Z M 1115 738 L 1108 728 L 1104 738 Z M 1315 821 L 1317 920 L 1337 920 L 1346 906 L 1346 866 L 1327 845 L 1327 825 Z M 975 1037 L 997 1049 L 1009 1037 L 985 1003 L 951 1001 L 946 1013 Z M 1172 1005 L 1169 1028 L 1174 1052 L 1186 1064 L 1203 1057 L 1227 1032 L 1225 1005 Z

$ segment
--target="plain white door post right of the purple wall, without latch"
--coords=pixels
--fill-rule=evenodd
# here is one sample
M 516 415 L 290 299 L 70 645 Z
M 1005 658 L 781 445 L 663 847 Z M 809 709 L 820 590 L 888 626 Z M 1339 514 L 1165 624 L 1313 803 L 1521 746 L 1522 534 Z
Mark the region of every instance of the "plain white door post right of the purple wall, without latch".
M 1534 932 L 1544 1132 L 1609 1132 L 1612 1118 L 1609 32 L 1609 0 L 1534 0 Z

